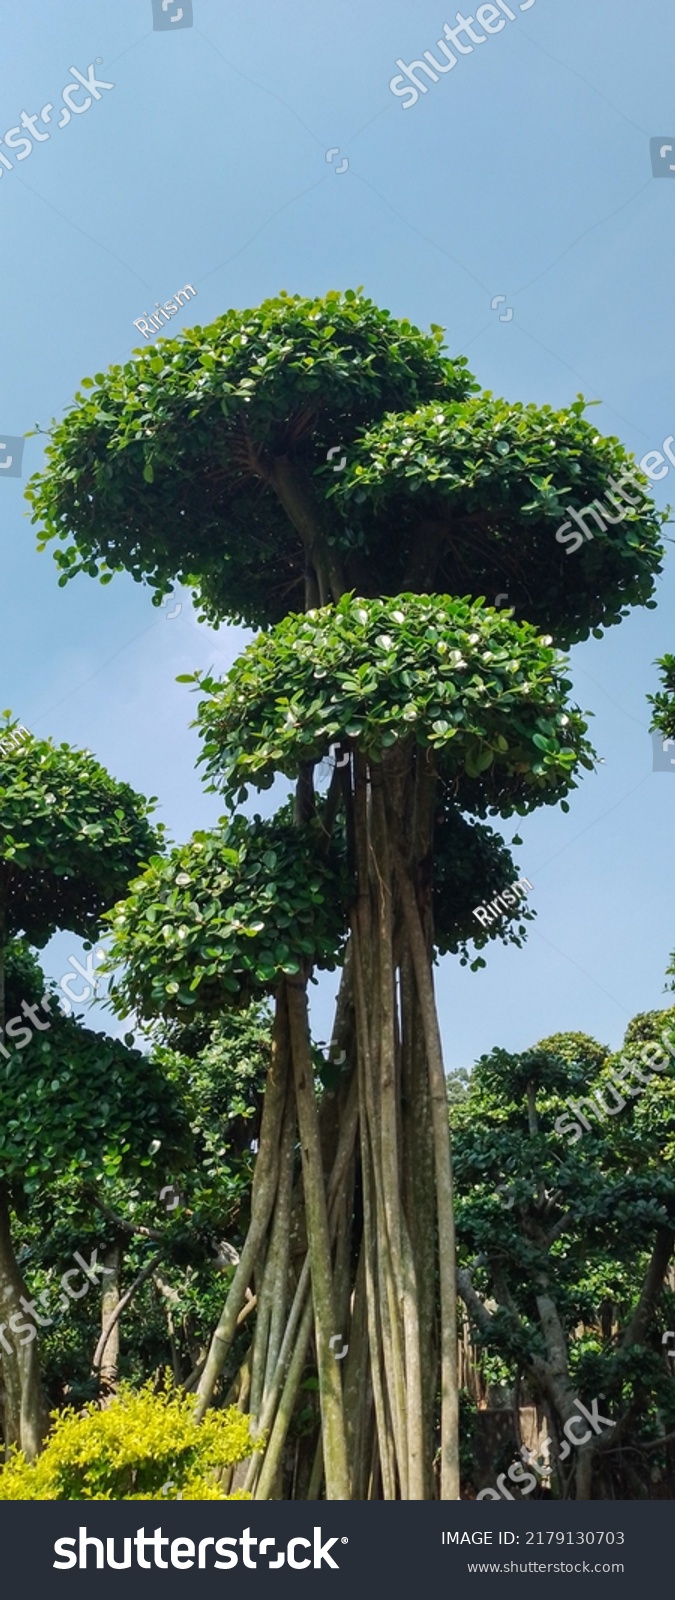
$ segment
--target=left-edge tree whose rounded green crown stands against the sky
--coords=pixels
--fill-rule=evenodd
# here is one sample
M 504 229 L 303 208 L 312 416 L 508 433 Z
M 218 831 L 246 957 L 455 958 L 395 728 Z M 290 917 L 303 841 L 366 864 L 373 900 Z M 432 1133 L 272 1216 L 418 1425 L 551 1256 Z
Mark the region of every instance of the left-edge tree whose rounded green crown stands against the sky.
M 16 725 L 6 720 L 6 736 Z M 46 739 L 0 744 L 0 1042 L 5 1077 L 21 1083 L 27 1048 L 40 1050 L 53 1022 L 42 1002 L 24 995 L 5 1008 L 5 950 L 16 938 L 42 947 L 58 930 L 94 939 L 102 912 L 125 891 L 157 848 L 152 802 L 115 782 L 86 750 Z M 51 1043 L 45 1048 L 50 1051 Z M 101 1046 L 102 1050 L 102 1046 Z M 35 1106 L 32 1109 L 35 1117 Z M 3 1141 L 10 1125 L 3 1122 Z M 19 1310 L 21 1274 L 11 1245 L 10 1173 L 0 1176 L 0 1304 L 5 1320 Z M 2 1350 L 8 1397 L 6 1443 L 27 1456 L 40 1445 L 40 1382 L 35 1346 Z

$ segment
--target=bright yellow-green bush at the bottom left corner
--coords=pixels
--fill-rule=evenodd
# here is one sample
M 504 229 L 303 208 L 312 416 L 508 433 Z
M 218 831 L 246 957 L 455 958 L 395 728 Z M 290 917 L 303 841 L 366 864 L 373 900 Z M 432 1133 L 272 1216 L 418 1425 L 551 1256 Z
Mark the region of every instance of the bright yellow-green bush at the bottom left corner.
M 194 1421 L 195 1402 L 173 1390 L 123 1389 L 104 1411 L 64 1411 L 42 1456 L 13 1456 L 0 1466 L 0 1499 L 242 1499 L 222 1494 L 216 1475 L 245 1461 L 253 1443 L 248 1418 L 235 1408 Z

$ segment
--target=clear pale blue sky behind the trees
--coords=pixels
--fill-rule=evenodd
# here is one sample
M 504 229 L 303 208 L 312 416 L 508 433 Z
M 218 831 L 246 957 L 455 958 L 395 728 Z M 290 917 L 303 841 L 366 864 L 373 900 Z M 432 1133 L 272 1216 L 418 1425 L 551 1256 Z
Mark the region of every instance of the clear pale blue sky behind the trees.
M 194 26 L 162 32 L 152 0 L 6 8 L 0 133 L 24 110 L 56 110 L 21 162 L 16 136 L 0 146 L 13 162 L 0 179 L 0 438 L 48 427 L 184 283 L 197 299 L 171 333 L 280 288 L 363 285 L 395 315 L 443 323 L 486 389 L 550 405 L 582 390 L 601 400 L 601 432 L 638 458 L 657 450 L 675 434 L 675 173 L 653 176 L 649 139 L 675 146 L 675 13 L 667 0 L 649 0 L 648 18 L 627 0 L 510 8 L 517 19 L 409 109 L 389 82 L 397 59 L 438 54 L 443 22 L 456 26 L 441 0 L 194 0 Z M 59 128 L 72 66 L 114 88 Z M 69 99 L 83 106 L 85 90 Z M 126 576 L 58 589 L 22 499 L 40 461 L 29 438 L 22 478 L 0 482 L 2 706 L 155 794 L 184 838 L 221 806 L 195 771 L 195 702 L 174 678 L 224 670 L 245 635 L 198 626 L 186 595 L 170 618 Z M 654 498 L 675 504 L 675 469 Z M 657 611 L 573 651 L 603 765 L 569 816 L 544 810 L 520 829 L 537 910 L 526 949 L 494 946 L 478 974 L 438 970 L 449 1067 L 557 1029 L 616 1046 L 637 1011 L 669 1003 L 675 778 L 651 771 L 645 699 L 654 658 L 673 648 L 667 549 Z M 48 971 L 59 978 L 77 949 L 54 939 Z M 318 1034 L 328 1026 L 325 994 Z

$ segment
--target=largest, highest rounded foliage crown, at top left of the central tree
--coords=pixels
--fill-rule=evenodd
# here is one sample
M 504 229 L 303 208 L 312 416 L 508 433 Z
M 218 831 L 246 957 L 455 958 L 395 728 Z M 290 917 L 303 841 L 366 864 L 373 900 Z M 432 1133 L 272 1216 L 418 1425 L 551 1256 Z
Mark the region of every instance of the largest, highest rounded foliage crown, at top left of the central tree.
M 126 570 L 160 602 L 179 578 L 211 621 L 277 622 L 302 602 L 306 558 L 270 462 L 310 470 L 385 411 L 467 395 L 440 336 L 352 290 L 280 294 L 83 379 L 27 491 L 43 539 L 72 536 L 59 582 Z M 338 539 L 328 506 L 326 518 Z

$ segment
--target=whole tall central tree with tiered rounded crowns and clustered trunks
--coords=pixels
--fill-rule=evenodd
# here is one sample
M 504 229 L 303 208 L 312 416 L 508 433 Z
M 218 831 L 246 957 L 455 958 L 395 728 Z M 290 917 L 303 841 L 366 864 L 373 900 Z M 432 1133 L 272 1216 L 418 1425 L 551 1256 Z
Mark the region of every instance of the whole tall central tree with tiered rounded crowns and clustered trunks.
M 325 1094 L 317 1110 L 307 984 L 328 958 L 323 890 L 310 891 L 317 926 L 306 936 L 267 867 L 283 906 L 282 917 L 270 914 L 274 942 L 259 946 L 254 973 L 277 998 L 278 1094 L 267 1090 L 258 1162 L 266 1173 L 258 1194 L 267 1198 L 253 1200 L 251 1250 L 214 1334 L 200 1405 L 227 1355 L 246 1272 L 261 1274 L 267 1259 L 291 1083 L 309 1266 L 298 1288 L 288 1283 L 288 1341 L 277 1363 L 267 1360 L 266 1328 L 259 1341 L 258 1421 L 274 1426 L 256 1493 L 270 1493 L 314 1328 L 323 1440 L 310 1486 L 323 1470 L 328 1498 L 424 1498 L 435 1491 L 440 1445 L 438 1493 L 454 1498 L 451 1163 L 432 962 L 467 936 L 467 880 L 461 867 L 462 933 L 461 918 L 437 933 L 435 867 L 445 856 L 443 898 L 453 909 L 462 829 L 477 866 L 480 858 L 483 893 L 494 866 L 489 834 L 467 814 L 565 803 L 589 749 L 550 646 L 651 603 L 659 517 L 646 499 L 630 504 L 569 558 L 555 538 L 568 509 L 589 504 L 611 474 L 635 470 L 619 442 L 600 438 L 581 400 L 553 413 L 477 394 L 465 363 L 443 355 L 441 330 L 424 336 L 353 291 L 318 301 L 283 294 L 227 312 L 86 387 L 30 486 L 43 536 L 66 541 L 61 581 L 88 571 L 107 582 L 125 568 L 150 582 L 160 603 L 179 578 L 210 621 L 274 629 L 222 690 L 202 685 L 208 768 L 230 795 L 267 786 L 275 771 L 293 776 L 306 880 L 317 885 L 339 842 L 350 880 L 330 949 L 344 968 L 334 1054 L 344 1051 L 350 1072 L 338 1107 Z M 334 446 L 347 458 L 344 472 L 334 470 Z M 509 594 L 517 621 L 485 605 L 497 592 Z M 315 766 L 331 744 L 339 765 L 323 803 Z M 197 950 L 181 931 L 192 926 L 195 899 L 165 950 L 171 965 L 187 941 L 195 965 L 189 971 L 179 954 L 173 1002 L 166 982 L 162 992 L 157 938 L 149 960 L 141 955 L 157 891 L 171 909 L 176 885 L 162 886 L 150 872 L 130 920 L 115 923 L 130 992 L 142 990 L 152 1006 L 187 1006 L 186 995 L 197 1005 L 208 981 L 227 992 L 234 960 L 234 995 L 254 957 L 246 965 L 237 930 L 232 942 L 230 930 L 210 941 L 203 928 Z M 330 893 L 339 909 L 336 885 Z M 250 926 L 227 883 L 222 894 L 229 918 Z M 219 923 L 218 893 L 208 915 L 198 898 L 197 906 Z M 302 896 L 298 909 L 301 920 L 309 915 Z M 253 942 L 256 928 L 250 933 Z M 485 944 L 478 923 L 477 933 Z M 341 1333 L 350 1338 L 344 1371 L 334 1355 Z

